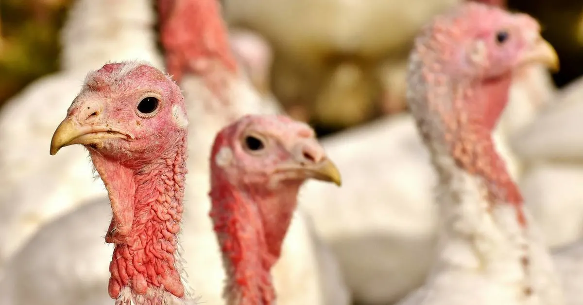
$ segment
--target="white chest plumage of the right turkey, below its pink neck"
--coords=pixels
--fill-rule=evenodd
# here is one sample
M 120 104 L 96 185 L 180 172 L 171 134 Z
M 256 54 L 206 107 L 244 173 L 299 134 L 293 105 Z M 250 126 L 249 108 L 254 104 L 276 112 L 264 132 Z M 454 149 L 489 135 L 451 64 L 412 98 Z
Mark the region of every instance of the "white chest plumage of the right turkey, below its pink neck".
M 440 185 L 437 258 L 420 289 L 399 305 L 563 304 L 563 292 L 545 242 L 532 217 L 528 230 L 511 205 L 483 199 L 476 176 L 448 165 L 449 185 Z M 526 251 L 525 251 L 526 247 Z M 521 258 L 528 257 L 528 276 Z M 531 289 L 525 294 L 525 287 Z

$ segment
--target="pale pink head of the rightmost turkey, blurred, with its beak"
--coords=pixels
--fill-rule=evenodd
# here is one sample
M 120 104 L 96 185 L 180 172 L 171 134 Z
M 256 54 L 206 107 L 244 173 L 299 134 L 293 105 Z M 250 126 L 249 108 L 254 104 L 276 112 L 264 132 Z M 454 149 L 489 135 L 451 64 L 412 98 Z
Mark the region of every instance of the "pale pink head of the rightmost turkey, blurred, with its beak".
M 463 119 L 464 113 L 463 120 L 479 121 L 474 123 L 487 130 L 493 129 L 506 105 L 515 71 L 533 63 L 558 68 L 557 54 L 540 36 L 535 19 L 475 2 L 437 16 L 424 27 L 415 41 L 410 62 L 408 96 L 413 112 L 418 109 L 425 116 L 437 111 L 442 117 L 455 114 L 456 119 Z M 427 98 L 421 92 L 463 93 L 466 96 L 458 98 L 466 102 L 417 102 Z M 435 109 L 424 109 L 427 106 Z

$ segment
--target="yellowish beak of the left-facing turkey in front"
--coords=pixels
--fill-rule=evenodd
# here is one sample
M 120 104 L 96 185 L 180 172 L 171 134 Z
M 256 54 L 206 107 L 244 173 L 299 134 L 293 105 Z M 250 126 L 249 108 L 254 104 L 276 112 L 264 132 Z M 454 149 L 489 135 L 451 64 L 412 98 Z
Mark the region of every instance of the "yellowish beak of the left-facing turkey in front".
M 112 127 L 79 123 L 72 116 L 68 116 L 52 135 L 51 155 L 57 154 L 61 147 L 73 144 L 99 144 L 106 138 L 131 138 L 131 136 Z

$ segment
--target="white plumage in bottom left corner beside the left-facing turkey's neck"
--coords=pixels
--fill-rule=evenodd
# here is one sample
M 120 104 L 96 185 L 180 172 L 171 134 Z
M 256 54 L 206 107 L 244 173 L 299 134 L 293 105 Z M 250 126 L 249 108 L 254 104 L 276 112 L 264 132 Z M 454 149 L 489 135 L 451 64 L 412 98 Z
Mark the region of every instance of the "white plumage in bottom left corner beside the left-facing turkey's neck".
M 108 200 L 97 199 L 47 221 L 6 265 L 0 304 L 114 304 L 107 294 L 113 244 L 104 241 L 110 220 Z

